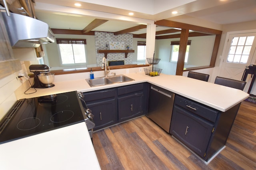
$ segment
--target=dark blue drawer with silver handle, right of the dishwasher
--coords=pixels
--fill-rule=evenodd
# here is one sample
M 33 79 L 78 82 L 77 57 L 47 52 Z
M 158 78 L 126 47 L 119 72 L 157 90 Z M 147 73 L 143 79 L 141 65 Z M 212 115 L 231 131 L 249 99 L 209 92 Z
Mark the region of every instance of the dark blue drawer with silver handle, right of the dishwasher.
M 178 95 L 175 96 L 174 104 L 183 107 L 184 109 L 189 110 L 190 112 L 195 113 L 212 122 L 215 122 L 218 115 L 218 111 Z

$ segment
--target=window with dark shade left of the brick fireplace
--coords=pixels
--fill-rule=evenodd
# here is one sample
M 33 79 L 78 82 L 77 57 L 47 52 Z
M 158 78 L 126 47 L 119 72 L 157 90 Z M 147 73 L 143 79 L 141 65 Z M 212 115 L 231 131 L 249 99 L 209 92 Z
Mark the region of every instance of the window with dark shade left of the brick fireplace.
M 63 65 L 80 65 L 86 63 L 86 39 L 56 39 Z

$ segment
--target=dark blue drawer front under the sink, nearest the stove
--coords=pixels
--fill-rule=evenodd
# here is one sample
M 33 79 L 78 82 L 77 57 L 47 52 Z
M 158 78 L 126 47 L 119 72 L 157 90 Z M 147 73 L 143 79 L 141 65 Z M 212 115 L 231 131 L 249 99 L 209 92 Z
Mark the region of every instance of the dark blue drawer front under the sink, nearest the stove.
M 85 92 L 84 93 L 84 101 L 94 101 L 94 100 L 102 100 L 106 98 L 114 98 L 116 96 L 115 89 L 108 89 L 108 90 L 97 90 L 94 92 Z

